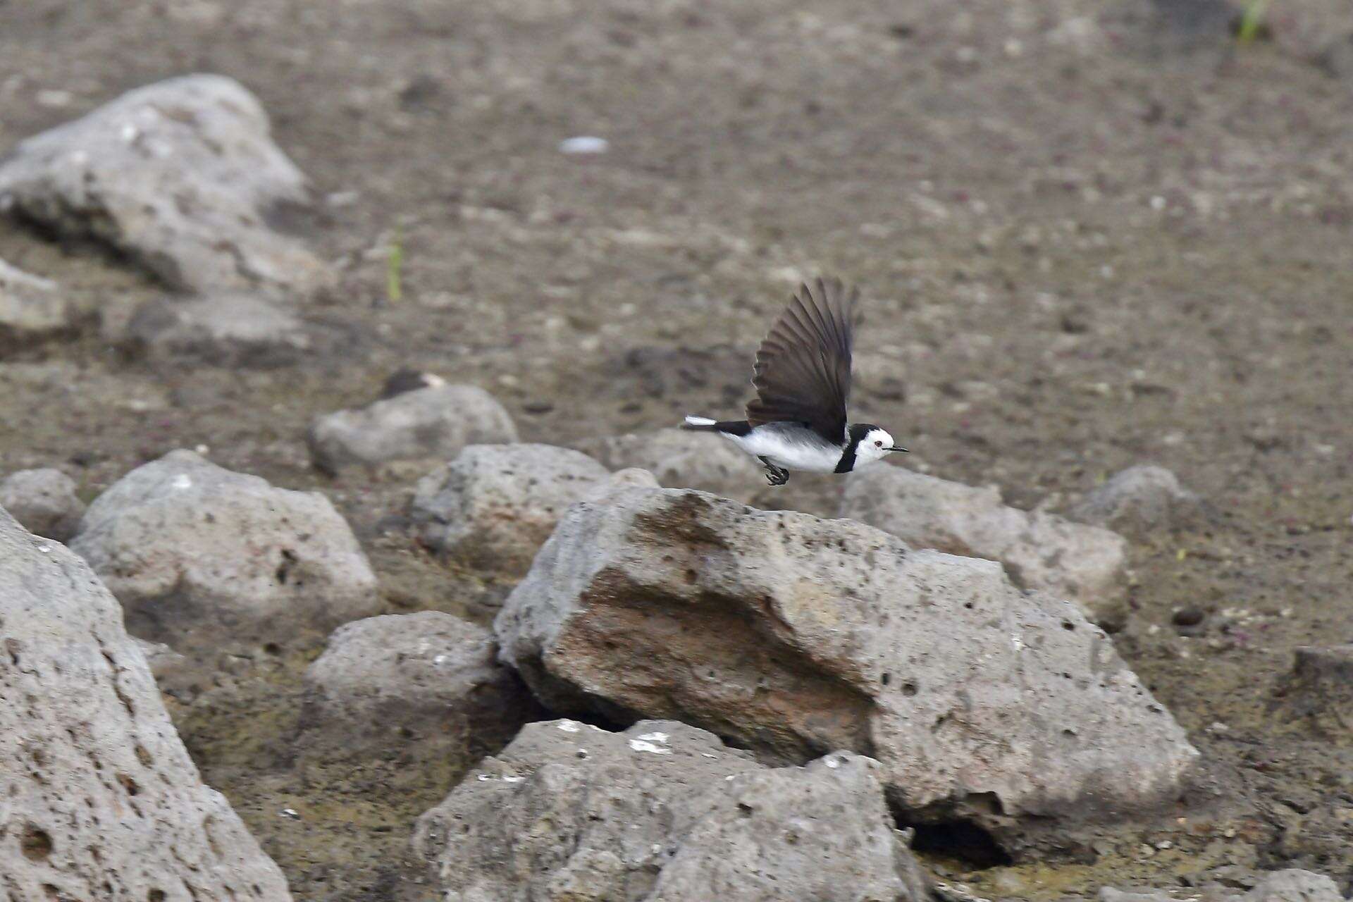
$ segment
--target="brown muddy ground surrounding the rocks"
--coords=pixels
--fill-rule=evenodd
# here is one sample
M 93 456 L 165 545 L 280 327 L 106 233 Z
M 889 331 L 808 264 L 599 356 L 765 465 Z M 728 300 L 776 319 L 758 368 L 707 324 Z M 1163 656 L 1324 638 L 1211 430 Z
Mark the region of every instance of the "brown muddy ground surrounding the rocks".
M 352 335 L 284 371 L 154 369 L 91 325 L 0 362 L 0 472 L 92 498 L 204 445 L 329 494 L 390 610 L 484 619 L 510 587 L 388 519 L 418 473 L 315 473 L 315 414 L 399 366 L 484 385 L 526 441 L 729 414 L 792 284 L 839 273 L 865 289 L 855 418 L 907 465 L 1061 508 L 1158 462 L 1214 508 L 1134 542 L 1115 637 L 1203 752 L 1197 794 L 1078 860 L 936 874 L 1053 899 L 1293 865 L 1348 891 L 1353 740 L 1270 710 L 1295 646 L 1353 641 L 1353 74 L 1314 55 L 1353 32 L 1338 5 L 1273 4 L 1273 39 L 1238 46 L 1222 0 L 0 0 L 0 153 L 158 78 L 241 80 L 344 273 L 304 311 Z M 161 292 L 12 224 L 0 258 L 110 318 Z M 1207 615 L 1187 636 L 1183 609 Z M 430 898 L 410 825 L 469 761 L 294 767 L 302 665 L 170 702 L 206 779 L 298 899 Z

